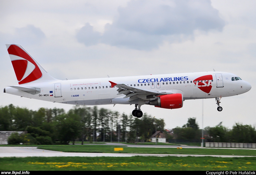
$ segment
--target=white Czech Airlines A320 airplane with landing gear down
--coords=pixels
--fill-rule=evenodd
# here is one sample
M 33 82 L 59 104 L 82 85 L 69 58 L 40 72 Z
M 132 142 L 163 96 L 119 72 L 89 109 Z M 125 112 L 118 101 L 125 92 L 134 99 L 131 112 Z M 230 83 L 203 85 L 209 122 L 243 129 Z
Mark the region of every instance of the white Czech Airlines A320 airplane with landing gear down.
M 132 115 L 142 117 L 141 106 L 176 109 L 190 99 L 215 98 L 217 110 L 221 97 L 243 94 L 251 85 L 227 72 L 195 72 L 127 76 L 79 80 L 57 80 L 50 76 L 20 45 L 6 44 L 18 85 L 4 93 L 73 105 L 135 105 Z

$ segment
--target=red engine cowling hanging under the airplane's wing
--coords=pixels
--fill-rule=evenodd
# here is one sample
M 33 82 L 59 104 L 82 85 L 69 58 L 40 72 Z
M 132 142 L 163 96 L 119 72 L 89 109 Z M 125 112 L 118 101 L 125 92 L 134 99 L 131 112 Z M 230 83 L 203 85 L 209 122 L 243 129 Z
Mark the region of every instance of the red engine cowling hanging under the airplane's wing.
M 150 105 L 166 109 L 177 109 L 183 106 L 182 94 L 160 95 L 158 99 L 150 101 Z

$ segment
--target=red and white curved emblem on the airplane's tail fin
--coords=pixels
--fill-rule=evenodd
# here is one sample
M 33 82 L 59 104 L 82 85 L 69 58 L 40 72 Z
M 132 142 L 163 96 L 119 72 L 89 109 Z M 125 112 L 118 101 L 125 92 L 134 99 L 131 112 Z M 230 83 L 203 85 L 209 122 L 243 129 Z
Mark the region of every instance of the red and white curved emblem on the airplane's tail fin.
M 22 48 L 10 45 L 8 53 L 19 84 L 29 83 L 42 77 L 37 63 Z

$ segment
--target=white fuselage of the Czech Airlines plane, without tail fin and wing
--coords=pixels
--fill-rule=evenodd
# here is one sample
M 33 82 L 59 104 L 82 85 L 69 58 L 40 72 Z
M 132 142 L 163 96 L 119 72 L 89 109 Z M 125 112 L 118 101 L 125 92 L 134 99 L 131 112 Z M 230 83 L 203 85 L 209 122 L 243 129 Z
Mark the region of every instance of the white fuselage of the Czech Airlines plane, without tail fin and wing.
M 209 78 L 211 77 L 211 78 Z M 57 80 L 20 84 L 23 88 L 40 88 L 40 93 L 30 94 L 12 87 L 5 88 L 9 94 L 31 99 L 74 105 L 136 104 L 128 101 L 118 88 L 111 88 L 111 82 L 125 84 L 151 91 L 181 93 L 183 99 L 204 99 L 226 97 L 245 93 L 251 85 L 244 80 L 231 80 L 237 77 L 227 72 L 196 72 L 162 75 L 128 76 L 114 78 Z

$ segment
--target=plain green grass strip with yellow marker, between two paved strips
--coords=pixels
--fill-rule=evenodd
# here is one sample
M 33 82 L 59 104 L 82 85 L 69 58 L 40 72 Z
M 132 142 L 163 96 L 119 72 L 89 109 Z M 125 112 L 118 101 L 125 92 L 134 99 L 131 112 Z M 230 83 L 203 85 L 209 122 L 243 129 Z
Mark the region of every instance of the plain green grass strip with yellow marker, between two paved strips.
M 123 151 L 114 151 L 114 147 L 108 145 L 68 145 L 38 147 L 52 151 L 62 152 L 97 152 L 97 153 L 141 153 L 141 154 L 191 154 L 191 155 L 242 155 L 256 156 L 256 150 L 249 149 L 203 149 L 203 148 L 140 148 L 124 147 Z

